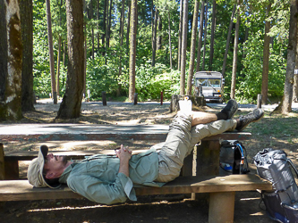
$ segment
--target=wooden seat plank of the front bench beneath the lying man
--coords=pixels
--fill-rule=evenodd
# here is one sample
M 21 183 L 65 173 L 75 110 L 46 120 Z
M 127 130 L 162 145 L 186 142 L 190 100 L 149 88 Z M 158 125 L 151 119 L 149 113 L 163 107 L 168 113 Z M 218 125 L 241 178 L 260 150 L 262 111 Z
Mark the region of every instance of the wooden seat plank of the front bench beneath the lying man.
M 180 177 L 162 187 L 135 187 L 137 195 L 191 194 L 251 190 L 272 190 L 272 185 L 259 176 L 231 175 L 226 177 Z M 59 189 L 33 188 L 27 180 L 1 180 L 0 202 L 79 198 L 67 186 Z

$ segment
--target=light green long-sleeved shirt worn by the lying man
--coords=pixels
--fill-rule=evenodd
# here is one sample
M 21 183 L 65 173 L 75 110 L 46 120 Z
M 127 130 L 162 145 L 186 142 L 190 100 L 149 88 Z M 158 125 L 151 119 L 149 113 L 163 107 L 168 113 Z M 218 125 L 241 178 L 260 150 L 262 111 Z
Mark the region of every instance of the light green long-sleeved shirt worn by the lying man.
M 59 178 L 73 192 L 90 201 L 112 204 L 136 201 L 133 186 L 163 186 L 154 182 L 158 178 L 158 153 L 150 149 L 132 155 L 130 177 L 118 173 L 120 160 L 116 156 L 93 155 L 83 161 L 73 162 Z

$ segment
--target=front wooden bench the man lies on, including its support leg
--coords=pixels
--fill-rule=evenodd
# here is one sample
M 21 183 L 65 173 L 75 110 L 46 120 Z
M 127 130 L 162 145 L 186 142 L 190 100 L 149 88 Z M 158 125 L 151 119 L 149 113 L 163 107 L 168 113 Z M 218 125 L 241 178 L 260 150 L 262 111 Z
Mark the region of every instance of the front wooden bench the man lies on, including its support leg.
M 234 220 L 235 192 L 272 190 L 267 180 L 257 175 L 230 175 L 226 177 L 179 177 L 162 187 L 135 187 L 137 195 L 209 193 L 209 222 Z M 0 202 L 81 198 L 67 186 L 58 189 L 35 188 L 27 180 L 0 180 Z

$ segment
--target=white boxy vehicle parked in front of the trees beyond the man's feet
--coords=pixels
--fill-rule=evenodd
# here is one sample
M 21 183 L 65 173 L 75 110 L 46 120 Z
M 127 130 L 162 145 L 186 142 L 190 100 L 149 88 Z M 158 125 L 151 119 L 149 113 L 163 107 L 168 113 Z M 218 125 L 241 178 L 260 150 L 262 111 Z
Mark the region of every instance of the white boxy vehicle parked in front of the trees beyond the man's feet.
M 203 95 L 206 103 L 223 103 L 225 78 L 220 72 L 196 72 L 194 83 L 195 95 Z

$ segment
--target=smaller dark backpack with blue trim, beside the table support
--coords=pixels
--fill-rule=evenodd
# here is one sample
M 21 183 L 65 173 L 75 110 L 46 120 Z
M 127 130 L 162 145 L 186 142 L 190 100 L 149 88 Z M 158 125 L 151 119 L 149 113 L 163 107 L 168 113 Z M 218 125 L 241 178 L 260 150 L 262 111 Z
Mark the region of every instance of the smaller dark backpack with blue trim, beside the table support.
M 238 140 L 225 140 L 219 153 L 219 175 L 245 174 L 248 169 L 246 149 Z

